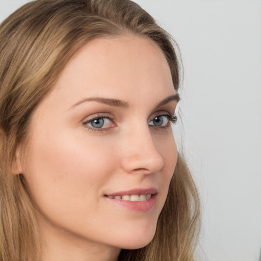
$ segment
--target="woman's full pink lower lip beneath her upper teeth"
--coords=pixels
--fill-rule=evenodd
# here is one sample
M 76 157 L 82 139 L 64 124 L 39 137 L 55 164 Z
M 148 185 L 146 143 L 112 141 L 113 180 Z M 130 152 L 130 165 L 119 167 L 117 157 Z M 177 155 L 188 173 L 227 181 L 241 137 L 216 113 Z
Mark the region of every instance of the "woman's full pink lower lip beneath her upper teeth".
M 151 195 L 150 199 L 144 201 L 129 201 L 129 200 L 109 198 L 109 197 L 107 197 L 107 199 L 110 200 L 111 202 L 126 207 L 129 210 L 137 211 L 137 212 L 146 212 L 149 211 L 154 206 L 155 197 L 156 194 L 153 194 Z

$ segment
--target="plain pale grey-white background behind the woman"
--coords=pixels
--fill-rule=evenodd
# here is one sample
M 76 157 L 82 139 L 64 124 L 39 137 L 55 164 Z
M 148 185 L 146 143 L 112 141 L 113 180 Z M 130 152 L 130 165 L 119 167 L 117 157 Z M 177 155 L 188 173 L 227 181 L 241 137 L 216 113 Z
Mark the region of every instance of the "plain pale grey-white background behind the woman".
M 26 2 L 0 0 L 0 21 Z M 181 49 L 177 143 L 201 195 L 198 260 L 261 260 L 261 1 L 136 2 Z

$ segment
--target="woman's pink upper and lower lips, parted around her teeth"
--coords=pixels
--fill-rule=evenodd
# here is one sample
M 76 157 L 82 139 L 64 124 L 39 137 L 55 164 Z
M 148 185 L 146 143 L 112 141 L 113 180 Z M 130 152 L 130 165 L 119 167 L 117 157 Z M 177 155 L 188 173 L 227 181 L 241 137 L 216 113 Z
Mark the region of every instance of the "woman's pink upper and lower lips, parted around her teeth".
M 146 195 L 151 194 L 151 198 L 145 201 L 129 201 L 122 199 L 109 198 L 109 196 L 123 196 L 123 195 Z M 106 194 L 105 198 L 109 202 L 113 204 L 117 204 L 120 207 L 127 208 L 128 210 L 134 212 L 147 212 L 151 210 L 151 208 L 155 204 L 156 196 L 158 195 L 158 190 L 156 188 L 148 188 L 148 189 L 132 189 L 128 191 L 119 191 L 112 194 Z

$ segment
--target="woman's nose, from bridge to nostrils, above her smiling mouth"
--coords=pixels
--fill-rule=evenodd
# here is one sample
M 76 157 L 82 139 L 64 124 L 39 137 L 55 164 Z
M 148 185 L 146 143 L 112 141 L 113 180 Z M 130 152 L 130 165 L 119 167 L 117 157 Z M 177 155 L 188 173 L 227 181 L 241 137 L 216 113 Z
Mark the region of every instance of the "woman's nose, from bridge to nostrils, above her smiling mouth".
M 127 173 L 153 174 L 164 166 L 148 126 L 132 128 L 122 143 L 122 168 Z

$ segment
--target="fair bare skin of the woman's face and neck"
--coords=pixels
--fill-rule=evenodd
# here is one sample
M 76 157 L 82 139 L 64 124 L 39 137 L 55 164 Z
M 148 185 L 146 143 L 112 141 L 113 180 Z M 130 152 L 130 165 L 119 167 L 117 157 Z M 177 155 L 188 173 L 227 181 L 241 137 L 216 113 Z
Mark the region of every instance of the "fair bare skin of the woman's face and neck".
M 176 101 L 158 107 L 173 94 L 167 61 L 149 39 L 94 39 L 70 59 L 33 112 L 27 161 L 16 169 L 39 210 L 44 261 L 116 260 L 121 248 L 152 240 L 177 159 L 170 122 L 153 119 L 174 114 Z M 81 102 L 90 97 L 128 107 Z M 97 130 L 94 116 L 112 120 Z M 158 194 L 146 212 L 105 197 L 151 187 Z

